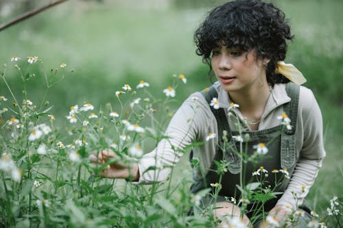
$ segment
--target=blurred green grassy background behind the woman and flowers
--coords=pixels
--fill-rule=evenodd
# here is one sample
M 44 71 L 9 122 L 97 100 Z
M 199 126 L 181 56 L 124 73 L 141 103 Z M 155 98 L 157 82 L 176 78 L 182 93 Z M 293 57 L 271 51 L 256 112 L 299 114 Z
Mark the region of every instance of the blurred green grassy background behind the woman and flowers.
M 220 0 L 88 0 L 67 1 L 26 21 L 0 31 L 0 64 L 7 64 L 6 79 L 14 94 L 23 97 L 23 84 L 12 55 L 43 60 L 46 72 L 58 68 L 67 76 L 50 88 L 47 100 L 54 105 L 56 122 L 63 125 L 71 105 L 83 101 L 99 109 L 117 104 L 115 91 L 140 80 L 164 96 L 171 75 L 184 74 L 187 84 L 176 91 L 174 108 L 192 92 L 208 87 L 208 68 L 195 53 L 193 32 Z M 295 39 L 285 62 L 296 65 L 307 77 L 305 86 L 318 99 L 324 121 L 327 158 L 309 199 L 324 207 L 343 188 L 343 1 L 274 0 L 292 25 Z M 0 24 L 49 1 L 1 0 Z M 67 64 L 60 69 L 60 64 Z M 40 103 L 45 92 L 44 72 L 27 81 L 27 96 Z M 73 71 L 73 73 L 70 73 Z M 0 81 L 0 96 L 10 93 Z M 19 99 L 20 100 L 20 99 Z M 3 117 L 4 118 L 4 117 Z M 180 166 L 187 165 L 187 158 Z M 328 178 L 329 177 L 329 178 Z

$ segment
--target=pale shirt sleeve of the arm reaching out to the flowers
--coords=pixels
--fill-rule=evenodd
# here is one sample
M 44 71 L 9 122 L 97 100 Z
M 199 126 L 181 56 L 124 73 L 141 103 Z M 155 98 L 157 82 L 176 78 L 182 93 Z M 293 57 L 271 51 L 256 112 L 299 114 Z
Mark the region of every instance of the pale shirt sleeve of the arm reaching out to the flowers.
M 139 162 L 139 181 L 135 183 L 153 183 L 163 181 L 171 168 L 183 155 L 182 149 L 194 142 L 200 128 L 208 125 L 204 117 L 204 99 L 200 92 L 191 96 L 180 106 L 165 131 L 165 138 L 157 147 L 143 155 Z

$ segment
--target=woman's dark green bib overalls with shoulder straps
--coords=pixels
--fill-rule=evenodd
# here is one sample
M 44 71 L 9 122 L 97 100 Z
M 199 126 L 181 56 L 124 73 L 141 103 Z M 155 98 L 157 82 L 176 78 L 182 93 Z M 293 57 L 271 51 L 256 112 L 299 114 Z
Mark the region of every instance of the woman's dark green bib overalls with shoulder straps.
M 276 187 L 274 190 L 275 192 L 285 192 L 285 189 L 289 183 L 289 179 L 285 178 L 284 173 L 274 174 L 272 173 L 272 170 L 287 169 L 289 177 L 292 177 L 297 160 L 295 130 L 300 87 L 292 82 L 289 82 L 286 84 L 285 88 L 287 95 L 291 98 L 291 101 L 283 105 L 283 111 L 292 120 L 292 129 L 288 130 L 285 125 L 281 124 L 280 121 L 280 125 L 276 127 L 263 129 L 260 131 L 241 132 L 242 138 L 244 138 L 246 134 L 249 135 L 248 142 L 243 142 L 243 151 L 246 151 L 248 155 L 252 155 L 252 153 L 256 151 L 256 149 L 253 149 L 253 146 L 259 144 L 260 142 L 265 143 L 266 147 L 268 147 L 268 153 L 265 155 L 265 159 L 261 161 L 261 164 L 252 164 L 249 162 L 244 164 L 244 173 L 246 174 L 245 182 L 256 182 L 257 180 L 253 179 L 254 177 L 252 177 L 252 173 L 259 169 L 260 166 L 263 166 L 263 168 L 269 172 L 268 177 L 265 178 L 265 186 L 263 186 L 263 188 L 267 186 L 270 186 L 272 189 L 274 188 L 275 175 L 277 175 L 277 179 L 282 178 L 281 184 Z M 209 89 L 209 92 L 202 91 L 202 94 L 208 103 L 211 103 L 213 97 L 217 98 L 217 91 L 213 86 Z M 216 149 L 214 160 L 225 160 L 225 162 L 228 164 L 228 172 L 224 173 L 222 176 L 222 189 L 220 190 L 218 196 L 220 196 L 220 199 L 224 199 L 224 197 L 235 197 L 235 199 L 239 199 L 240 191 L 237 189 L 237 185 L 240 184 L 239 173 L 241 172 L 241 158 L 238 155 L 238 152 L 240 151 L 240 143 L 236 142 L 232 136 L 238 136 L 240 133 L 230 130 L 230 126 L 223 108 L 215 110 L 212 106 L 210 107 L 216 118 L 218 129 L 219 147 Z M 220 149 L 223 148 L 224 145 L 223 131 L 227 131 L 228 145 L 230 148 L 227 151 L 224 151 L 224 154 L 222 149 Z M 248 147 L 247 150 L 246 147 Z M 206 174 L 206 176 L 191 186 L 191 192 L 196 193 L 204 188 L 211 188 L 211 183 L 219 182 L 220 175 L 218 175 L 215 170 L 217 170 L 217 165 L 212 162 L 209 172 Z M 264 204 L 265 212 L 271 210 L 278 200 L 279 197 L 267 201 Z M 256 207 L 256 205 L 254 205 L 253 202 L 248 205 L 248 208 L 251 210 L 251 212 L 253 212 L 254 207 Z M 247 215 L 251 216 L 252 214 Z

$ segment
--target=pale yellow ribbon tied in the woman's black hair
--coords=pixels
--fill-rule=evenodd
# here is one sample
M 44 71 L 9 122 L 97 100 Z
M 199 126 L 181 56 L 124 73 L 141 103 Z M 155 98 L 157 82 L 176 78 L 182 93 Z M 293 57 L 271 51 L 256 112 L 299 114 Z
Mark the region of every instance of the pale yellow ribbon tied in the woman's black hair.
M 279 73 L 287 77 L 287 79 L 297 85 L 301 85 L 306 82 L 304 75 L 293 64 L 286 64 L 283 61 L 276 63 L 275 73 Z

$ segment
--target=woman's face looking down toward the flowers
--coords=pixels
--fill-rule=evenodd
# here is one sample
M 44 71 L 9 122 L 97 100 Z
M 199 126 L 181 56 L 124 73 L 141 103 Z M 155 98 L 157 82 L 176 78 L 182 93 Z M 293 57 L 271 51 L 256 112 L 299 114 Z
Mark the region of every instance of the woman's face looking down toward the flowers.
M 255 49 L 244 51 L 221 45 L 212 51 L 211 64 L 217 80 L 226 92 L 249 92 L 267 84 L 265 64 Z

